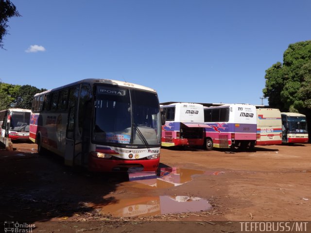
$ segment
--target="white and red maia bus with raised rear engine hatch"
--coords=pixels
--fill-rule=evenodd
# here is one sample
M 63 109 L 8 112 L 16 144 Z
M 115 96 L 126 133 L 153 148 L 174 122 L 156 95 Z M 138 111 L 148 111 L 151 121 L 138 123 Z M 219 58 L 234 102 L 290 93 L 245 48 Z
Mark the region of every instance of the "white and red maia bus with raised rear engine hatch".
M 162 126 L 161 145 L 203 146 L 204 145 L 204 110 L 202 104 L 172 103 L 160 106 L 165 114 Z

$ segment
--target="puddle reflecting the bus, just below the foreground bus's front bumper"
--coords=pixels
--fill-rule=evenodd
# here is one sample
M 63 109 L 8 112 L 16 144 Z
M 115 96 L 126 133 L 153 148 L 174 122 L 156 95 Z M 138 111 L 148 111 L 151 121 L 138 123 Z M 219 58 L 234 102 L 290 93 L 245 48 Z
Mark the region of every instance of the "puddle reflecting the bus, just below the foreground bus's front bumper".
M 156 188 L 179 186 L 192 181 L 195 175 L 219 175 L 223 171 L 200 171 L 193 169 L 163 167 L 159 172 L 128 172 L 129 181 Z

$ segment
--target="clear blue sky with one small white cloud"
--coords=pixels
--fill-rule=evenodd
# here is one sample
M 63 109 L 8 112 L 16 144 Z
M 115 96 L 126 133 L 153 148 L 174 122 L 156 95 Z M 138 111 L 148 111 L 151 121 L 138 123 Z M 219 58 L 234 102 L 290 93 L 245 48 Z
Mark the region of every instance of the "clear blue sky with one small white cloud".
M 0 81 L 38 88 L 103 78 L 160 102 L 261 104 L 265 70 L 311 39 L 310 0 L 11 1 L 22 17 L 9 20 Z

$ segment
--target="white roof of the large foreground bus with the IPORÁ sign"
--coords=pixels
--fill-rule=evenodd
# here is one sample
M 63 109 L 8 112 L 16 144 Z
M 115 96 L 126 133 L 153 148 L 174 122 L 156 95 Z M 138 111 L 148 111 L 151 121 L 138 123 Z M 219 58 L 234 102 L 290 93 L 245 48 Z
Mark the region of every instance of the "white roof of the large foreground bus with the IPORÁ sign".
M 135 88 L 135 89 L 140 89 L 140 90 L 145 90 L 145 91 L 150 91 L 150 92 L 155 92 L 156 93 L 155 89 L 152 89 L 150 87 L 146 87 L 146 86 L 142 86 L 142 85 L 134 84 L 134 83 L 127 83 L 125 81 L 122 82 L 122 81 L 111 80 L 111 79 L 84 79 L 84 80 L 80 80 L 78 82 L 69 83 L 69 84 L 64 85 L 64 86 L 56 87 L 56 88 L 53 88 L 51 90 L 47 90 L 47 91 L 44 91 L 44 92 L 41 92 L 41 93 L 37 93 L 37 94 L 35 94 L 35 96 L 46 94 L 46 93 L 49 93 L 49 92 L 52 92 L 52 91 L 61 90 L 61 89 L 64 89 L 64 88 L 67 88 L 67 87 L 71 87 L 71 86 L 75 86 L 75 85 L 78 85 L 78 84 L 81 84 L 81 83 L 88 83 L 90 85 L 93 85 L 95 83 L 118 85 L 118 86 L 122 86 L 122 87 Z

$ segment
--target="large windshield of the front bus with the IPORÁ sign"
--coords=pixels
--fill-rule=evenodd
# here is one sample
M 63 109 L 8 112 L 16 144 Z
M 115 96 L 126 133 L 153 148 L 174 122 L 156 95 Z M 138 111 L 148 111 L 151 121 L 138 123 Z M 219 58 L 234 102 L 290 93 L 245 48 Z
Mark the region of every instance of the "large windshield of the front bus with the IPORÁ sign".
M 159 103 L 155 93 L 97 85 L 94 141 L 156 145 L 160 143 L 160 132 Z

